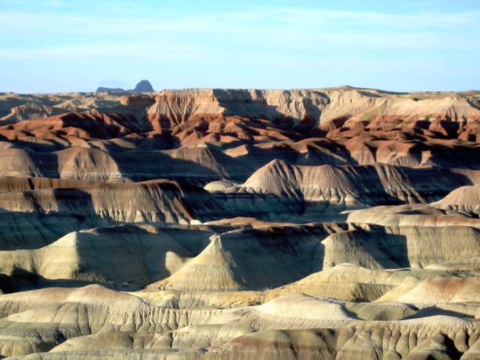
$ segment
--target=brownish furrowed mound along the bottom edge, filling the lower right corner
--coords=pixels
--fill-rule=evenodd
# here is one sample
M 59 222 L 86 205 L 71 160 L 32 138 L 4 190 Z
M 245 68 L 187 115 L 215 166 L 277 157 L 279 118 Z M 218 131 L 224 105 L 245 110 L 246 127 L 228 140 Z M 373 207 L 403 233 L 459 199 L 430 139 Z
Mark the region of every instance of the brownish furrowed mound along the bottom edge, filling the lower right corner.
M 208 352 L 207 358 L 455 359 L 462 352 L 476 353 L 478 335 L 475 322 L 455 322 L 451 317 L 436 317 L 432 324 L 364 322 L 334 329 L 245 334 Z

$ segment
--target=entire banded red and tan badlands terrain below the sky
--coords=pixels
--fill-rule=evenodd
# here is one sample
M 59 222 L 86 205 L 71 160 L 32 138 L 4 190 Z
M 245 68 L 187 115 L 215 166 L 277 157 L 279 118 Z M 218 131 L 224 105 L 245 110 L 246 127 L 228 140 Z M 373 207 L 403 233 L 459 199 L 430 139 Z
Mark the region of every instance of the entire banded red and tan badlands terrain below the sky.
M 480 92 L 99 90 L 0 94 L 1 358 L 480 359 Z

